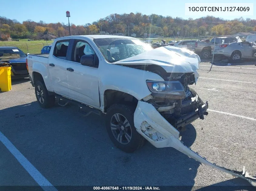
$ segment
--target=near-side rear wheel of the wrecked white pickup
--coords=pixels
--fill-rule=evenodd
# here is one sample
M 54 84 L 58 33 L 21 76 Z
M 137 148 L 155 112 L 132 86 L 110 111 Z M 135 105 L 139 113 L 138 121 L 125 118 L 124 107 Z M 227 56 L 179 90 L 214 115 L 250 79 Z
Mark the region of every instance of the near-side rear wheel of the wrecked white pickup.
M 49 95 L 45 83 L 42 81 L 35 82 L 35 96 L 40 107 L 49 108 L 54 106 L 55 96 Z

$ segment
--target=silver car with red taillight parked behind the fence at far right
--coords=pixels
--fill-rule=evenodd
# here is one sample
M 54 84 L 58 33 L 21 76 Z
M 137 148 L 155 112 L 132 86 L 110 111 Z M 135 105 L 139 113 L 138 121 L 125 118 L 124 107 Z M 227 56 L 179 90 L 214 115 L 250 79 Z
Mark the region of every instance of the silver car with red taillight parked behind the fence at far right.
M 256 58 L 256 47 L 249 42 L 234 42 L 215 45 L 214 55 L 226 56 L 231 62 L 239 62 L 241 58 Z

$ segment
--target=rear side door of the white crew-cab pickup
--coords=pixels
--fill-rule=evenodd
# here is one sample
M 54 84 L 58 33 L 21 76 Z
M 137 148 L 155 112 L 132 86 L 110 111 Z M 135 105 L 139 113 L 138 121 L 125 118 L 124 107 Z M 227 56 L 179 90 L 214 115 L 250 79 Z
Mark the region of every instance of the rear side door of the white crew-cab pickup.
M 55 93 L 69 95 L 68 83 L 66 77 L 67 56 L 70 48 L 70 40 L 60 40 L 55 43 L 53 53 L 49 56 L 48 69 L 52 81 L 52 87 Z

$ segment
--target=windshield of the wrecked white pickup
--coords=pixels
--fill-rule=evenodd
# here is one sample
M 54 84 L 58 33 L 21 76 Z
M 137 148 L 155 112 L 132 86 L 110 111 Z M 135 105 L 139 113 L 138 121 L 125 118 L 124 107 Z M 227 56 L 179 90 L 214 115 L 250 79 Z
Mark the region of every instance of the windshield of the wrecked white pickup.
M 153 49 L 141 40 L 132 38 L 99 38 L 94 39 L 94 42 L 105 59 L 110 63 L 136 56 Z

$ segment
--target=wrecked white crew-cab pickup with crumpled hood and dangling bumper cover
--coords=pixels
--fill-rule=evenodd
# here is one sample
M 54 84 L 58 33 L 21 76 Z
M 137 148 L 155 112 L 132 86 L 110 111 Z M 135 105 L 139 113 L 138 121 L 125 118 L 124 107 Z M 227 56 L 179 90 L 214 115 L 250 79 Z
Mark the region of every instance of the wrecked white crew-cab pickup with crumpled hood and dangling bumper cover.
M 131 38 L 107 35 L 55 39 L 48 55 L 28 55 L 28 72 L 41 107 L 77 103 L 106 114 L 111 141 L 125 152 L 145 139 L 173 147 L 201 163 L 248 180 L 245 171 L 210 163 L 179 139 L 179 131 L 207 115 L 208 103 L 188 85 L 198 80 L 200 58 L 173 46 L 152 49 Z M 61 102 L 65 101 L 65 104 Z

